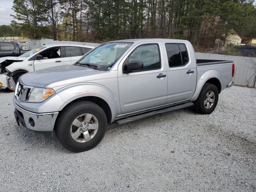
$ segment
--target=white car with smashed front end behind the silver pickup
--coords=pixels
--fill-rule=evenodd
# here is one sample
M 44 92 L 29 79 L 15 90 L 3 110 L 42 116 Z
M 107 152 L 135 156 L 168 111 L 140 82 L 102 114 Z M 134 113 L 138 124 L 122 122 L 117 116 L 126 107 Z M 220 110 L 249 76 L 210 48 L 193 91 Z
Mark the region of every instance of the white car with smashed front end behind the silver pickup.
M 72 65 L 94 46 L 44 45 L 18 57 L 0 58 L 0 89 L 15 90 L 21 75 L 40 69 Z

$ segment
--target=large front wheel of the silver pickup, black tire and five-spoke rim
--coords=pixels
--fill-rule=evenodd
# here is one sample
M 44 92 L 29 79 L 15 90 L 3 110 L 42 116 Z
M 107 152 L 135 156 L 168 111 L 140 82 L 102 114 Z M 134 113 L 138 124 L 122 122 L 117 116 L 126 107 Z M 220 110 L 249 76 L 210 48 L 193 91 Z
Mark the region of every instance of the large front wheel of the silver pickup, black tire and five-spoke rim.
M 60 112 L 56 136 L 72 152 L 84 152 L 97 146 L 105 135 L 107 118 L 93 102 L 77 101 Z

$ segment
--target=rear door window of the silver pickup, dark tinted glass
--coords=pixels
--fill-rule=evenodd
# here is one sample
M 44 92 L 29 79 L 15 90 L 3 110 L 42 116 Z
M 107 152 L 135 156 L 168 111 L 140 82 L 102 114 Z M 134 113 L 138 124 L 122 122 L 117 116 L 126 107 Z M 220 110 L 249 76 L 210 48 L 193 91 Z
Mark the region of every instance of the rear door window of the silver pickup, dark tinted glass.
M 170 67 L 184 66 L 188 63 L 188 52 L 184 44 L 165 44 Z

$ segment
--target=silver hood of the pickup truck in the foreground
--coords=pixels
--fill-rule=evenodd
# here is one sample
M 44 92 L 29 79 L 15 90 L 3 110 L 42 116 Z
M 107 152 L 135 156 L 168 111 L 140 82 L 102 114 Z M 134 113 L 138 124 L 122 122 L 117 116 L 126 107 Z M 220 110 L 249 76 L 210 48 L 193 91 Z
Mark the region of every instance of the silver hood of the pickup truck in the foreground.
M 20 77 L 19 81 L 27 86 L 53 88 L 66 84 L 112 78 L 113 75 L 112 71 L 71 65 L 26 73 Z

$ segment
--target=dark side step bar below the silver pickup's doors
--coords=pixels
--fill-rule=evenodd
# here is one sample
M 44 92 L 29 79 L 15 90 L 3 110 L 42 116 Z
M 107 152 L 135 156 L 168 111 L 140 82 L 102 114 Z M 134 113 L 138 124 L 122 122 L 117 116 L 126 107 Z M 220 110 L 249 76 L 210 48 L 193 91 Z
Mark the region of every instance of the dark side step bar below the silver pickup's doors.
M 116 124 L 122 125 L 122 124 L 125 124 L 125 123 L 140 120 L 142 118 L 153 116 L 153 115 L 156 115 L 156 114 L 175 111 L 175 110 L 178 110 L 178 109 L 184 109 L 184 108 L 192 107 L 192 106 L 194 106 L 194 103 L 192 103 L 192 102 L 185 103 L 185 104 L 180 104 L 180 105 L 176 105 L 176 106 L 172 106 L 172 107 L 168 107 L 168 108 L 164 108 L 164 109 L 160 109 L 160 110 L 156 110 L 156 111 L 151 111 L 151 112 L 144 113 L 144 114 L 139 114 L 139 115 L 127 117 L 127 118 L 124 118 L 124 119 L 120 119 L 120 120 L 116 121 Z

